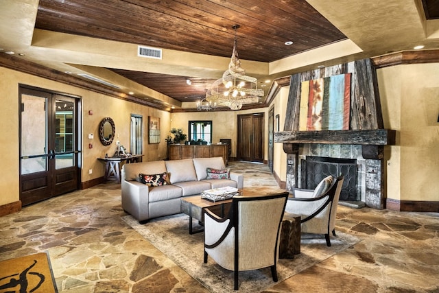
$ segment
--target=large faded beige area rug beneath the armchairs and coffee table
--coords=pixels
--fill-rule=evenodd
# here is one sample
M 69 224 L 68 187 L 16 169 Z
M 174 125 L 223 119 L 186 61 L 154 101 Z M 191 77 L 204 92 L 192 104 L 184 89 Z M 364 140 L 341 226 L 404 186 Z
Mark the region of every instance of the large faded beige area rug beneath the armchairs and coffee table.
M 203 263 L 204 233 L 189 235 L 188 215 L 169 215 L 143 225 L 131 215 L 122 219 L 211 292 L 236 292 L 233 290 L 233 272 L 218 266 L 210 257 L 208 263 Z M 193 221 L 195 227 L 196 222 Z M 279 259 L 278 281 L 340 253 L 359 240 L 353 235 L 337 232 L 337 237 L 331 237 L 332 246 L 328 247 L 323 235 L 302 234 L 300 254 L 294 259 Z M 261 292 L 273 285 L 270 268 L 239 272 L 239 292 Z

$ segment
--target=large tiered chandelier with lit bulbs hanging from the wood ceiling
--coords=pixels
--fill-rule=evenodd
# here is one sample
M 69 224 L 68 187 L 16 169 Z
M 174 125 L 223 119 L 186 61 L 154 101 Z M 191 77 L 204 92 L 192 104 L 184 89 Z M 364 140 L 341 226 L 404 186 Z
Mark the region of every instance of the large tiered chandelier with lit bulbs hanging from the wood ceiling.
M 246 71 L 241 68 L 236 36 L 239 25 L 233 25 L 232 28 L 235 30 L 232 58 L 222 78 L 215 80 L 206 92 L 206 100 L 218 106 L 228 106 L 231 110 L 239 110 L 243 104 L 259 102 L 259 97 L 264 93 L 262 89 L 257 89 L 257 79 L 246 75 Z

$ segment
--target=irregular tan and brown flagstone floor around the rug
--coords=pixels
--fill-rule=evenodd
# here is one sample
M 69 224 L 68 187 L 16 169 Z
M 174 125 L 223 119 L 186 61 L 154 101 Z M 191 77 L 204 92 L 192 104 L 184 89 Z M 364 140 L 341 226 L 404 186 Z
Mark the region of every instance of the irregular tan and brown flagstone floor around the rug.
M 278 189 L 266 165 L 230 167 Z M 0 260 L 47 251 L 59 292 L 208 292 L 122 215 L 113 182 L 32 204 L 0 218 Z M 362 240 L 266 292 L 439 292 L 439 213 L 339 206 L 336 231 Z

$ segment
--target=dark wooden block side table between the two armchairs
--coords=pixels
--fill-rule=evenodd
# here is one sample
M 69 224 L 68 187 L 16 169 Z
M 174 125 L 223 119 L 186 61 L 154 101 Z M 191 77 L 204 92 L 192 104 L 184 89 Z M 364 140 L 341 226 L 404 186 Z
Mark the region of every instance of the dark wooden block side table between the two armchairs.
M 300 215 L 284 213 L 279 243 L 279 258 L 293 259 L 300 253 Z

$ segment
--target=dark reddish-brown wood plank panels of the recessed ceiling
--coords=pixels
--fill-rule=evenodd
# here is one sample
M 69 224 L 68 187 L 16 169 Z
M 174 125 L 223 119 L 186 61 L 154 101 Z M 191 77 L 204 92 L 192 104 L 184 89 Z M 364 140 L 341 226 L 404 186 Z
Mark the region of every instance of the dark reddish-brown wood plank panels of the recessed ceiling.
M 246 60 L 272 62 L 346 39 L 305 0 L 40 0 L 36 16 L 42 30 L 223 57 L 232 54 L 235 24 Z M 213 82 L 112 70 L 180 102 L 204 96 Z M 187 78 L 203 86 L 188 86 Z

